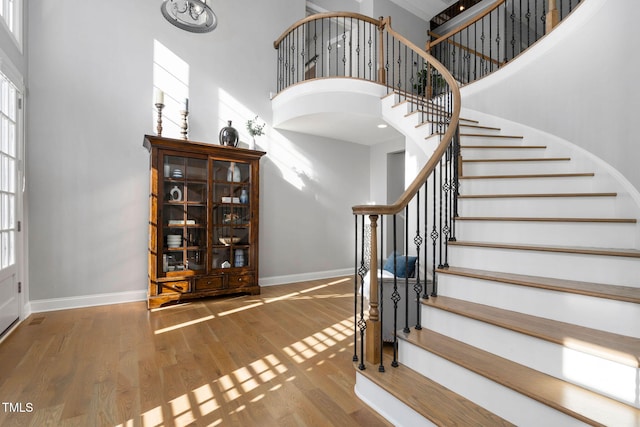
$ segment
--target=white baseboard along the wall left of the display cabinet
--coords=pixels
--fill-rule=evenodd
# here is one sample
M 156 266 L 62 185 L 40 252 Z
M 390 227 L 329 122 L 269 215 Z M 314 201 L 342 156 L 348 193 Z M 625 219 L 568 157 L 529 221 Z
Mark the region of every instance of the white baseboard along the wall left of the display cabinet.
M 66 298 L 51 298 L 29 301 L 28 313 L 68 310 L 71 308 L 93 307 L 97 305 L 121 304 L 125 302 L 146 301 L 147 290 L 113 292 L 108 294 L 81 295 Z

